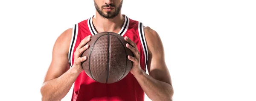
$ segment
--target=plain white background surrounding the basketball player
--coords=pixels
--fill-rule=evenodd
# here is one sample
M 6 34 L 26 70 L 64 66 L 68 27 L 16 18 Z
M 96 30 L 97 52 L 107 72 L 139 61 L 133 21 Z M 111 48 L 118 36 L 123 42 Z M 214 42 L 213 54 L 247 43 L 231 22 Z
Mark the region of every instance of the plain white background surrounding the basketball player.
M 0 101 L 40 101 L 55 40 L 95 14 L 93 0 L 6 1 L 0 1 Z M 174 101 L 256 101 L 255 5 L 124 0 L 122 14 L 160 35 Z

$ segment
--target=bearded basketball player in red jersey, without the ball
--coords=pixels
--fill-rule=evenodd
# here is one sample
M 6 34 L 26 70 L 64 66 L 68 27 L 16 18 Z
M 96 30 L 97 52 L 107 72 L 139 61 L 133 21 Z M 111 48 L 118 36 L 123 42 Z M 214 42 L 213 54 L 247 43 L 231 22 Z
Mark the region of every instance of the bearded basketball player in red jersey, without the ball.
M 172 101 L 172 81 L 157 32 L 121 14 L 122 0 L 94 0 L 94 4 L 95 15 L 56 40 L 41 87 L 42 100 L 60 101 L 74 83 L 71 101 L 144 101 L 144 92 L 153 101 Z M 122 35 L 134 53 L 127 57 L 133 62 L 130 73 L 113 84 L 90 79 L 81 67 L 87 56 L 80 56 L 90 47 L 86 45 L 90 37 L 103 31 Z

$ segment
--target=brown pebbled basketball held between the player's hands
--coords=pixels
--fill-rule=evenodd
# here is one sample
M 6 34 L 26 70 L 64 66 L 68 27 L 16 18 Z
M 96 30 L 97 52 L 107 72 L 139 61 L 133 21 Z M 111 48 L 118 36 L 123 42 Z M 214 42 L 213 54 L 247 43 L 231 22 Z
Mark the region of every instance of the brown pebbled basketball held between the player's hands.
M 126 43 L 123 36 L 113 32 L 92 36 L 87 43 L 90 47 L 82 54 L 87 56 L 87 60 L 82 62 L 85 73 L 91 79 L 107 84 L 125 78 L 132 67 L 132 61 L 127 57 L 134 56 Z

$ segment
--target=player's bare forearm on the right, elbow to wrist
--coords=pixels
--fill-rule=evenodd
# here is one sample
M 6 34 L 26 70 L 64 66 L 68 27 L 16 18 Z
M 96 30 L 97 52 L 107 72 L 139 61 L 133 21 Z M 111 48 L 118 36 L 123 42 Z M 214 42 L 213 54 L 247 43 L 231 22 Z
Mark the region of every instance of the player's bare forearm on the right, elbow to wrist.
M 153 101 L 172 101 L 173 88 L 170 84 L 156 80 L 144 71 L 134 75 L 143 91 Z

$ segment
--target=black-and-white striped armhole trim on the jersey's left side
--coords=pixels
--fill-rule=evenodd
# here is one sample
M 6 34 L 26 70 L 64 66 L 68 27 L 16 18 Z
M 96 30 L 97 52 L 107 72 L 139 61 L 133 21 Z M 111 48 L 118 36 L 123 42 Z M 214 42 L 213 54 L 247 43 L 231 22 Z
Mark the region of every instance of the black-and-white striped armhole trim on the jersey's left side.
M 72 59 L 73 59 L 73 51 L 74 51 L 74 47 L 76 45 L 76 38 L 77 38 L 77 32 L 78 32 L 78 24 L 75 24 L 73 26 L 73 31 L 72 31 L 72 38 L 70 41 L 70 48 L 69 48 L 69 52 L 68 52 L 68 61 L 70 62 L 70 67 L 72 67 Z

